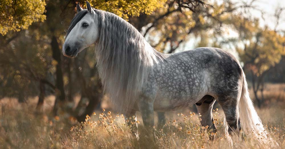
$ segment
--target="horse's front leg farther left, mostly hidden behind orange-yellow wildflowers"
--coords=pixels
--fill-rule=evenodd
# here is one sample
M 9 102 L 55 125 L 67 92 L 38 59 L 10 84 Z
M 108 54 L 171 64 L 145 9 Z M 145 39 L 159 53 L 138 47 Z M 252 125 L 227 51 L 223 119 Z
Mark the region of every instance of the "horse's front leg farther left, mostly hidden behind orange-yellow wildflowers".
M 126 115 L 126 123 L 131 126 L 132 134 L 139 140 L 139 131 L 137 124 L 137 111 L 132 110 L 128 115 Z

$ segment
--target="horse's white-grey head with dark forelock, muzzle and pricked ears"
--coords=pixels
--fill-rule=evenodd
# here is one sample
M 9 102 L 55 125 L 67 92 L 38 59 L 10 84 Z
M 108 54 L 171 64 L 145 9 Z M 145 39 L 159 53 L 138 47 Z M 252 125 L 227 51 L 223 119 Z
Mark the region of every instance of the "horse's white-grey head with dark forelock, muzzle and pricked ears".
M 86 47 L 89 47 L 98 38 L 98 15 L 86 2 L 87 9 L 82 9 L 77 3 L 77 14 L 72 19 L 62 47 L 62 53 L 67 57 L 76 57 Z

